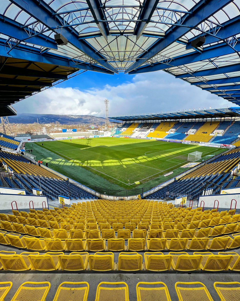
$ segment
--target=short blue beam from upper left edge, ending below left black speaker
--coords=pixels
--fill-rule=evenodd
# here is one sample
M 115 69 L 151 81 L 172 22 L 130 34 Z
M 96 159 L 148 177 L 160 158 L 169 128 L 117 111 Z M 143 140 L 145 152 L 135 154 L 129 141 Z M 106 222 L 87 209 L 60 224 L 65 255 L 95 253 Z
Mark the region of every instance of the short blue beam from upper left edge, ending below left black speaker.
M 54 39 L 40 33 L 37 36 L 31 36 L 22 27 L 22 24 L 0 14 L 0 33 L 20 41 L 25 40 L 31 44 L 58 49 L 57 43 Z

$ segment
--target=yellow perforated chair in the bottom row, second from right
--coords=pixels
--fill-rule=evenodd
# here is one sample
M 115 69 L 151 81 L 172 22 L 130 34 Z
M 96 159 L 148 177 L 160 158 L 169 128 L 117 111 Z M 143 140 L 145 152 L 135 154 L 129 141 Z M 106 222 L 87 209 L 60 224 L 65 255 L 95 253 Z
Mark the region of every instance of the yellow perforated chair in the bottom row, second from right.
M 201 282 L 176 282 L 175 289 L 179 301 L 214 301 L 206 286 Z

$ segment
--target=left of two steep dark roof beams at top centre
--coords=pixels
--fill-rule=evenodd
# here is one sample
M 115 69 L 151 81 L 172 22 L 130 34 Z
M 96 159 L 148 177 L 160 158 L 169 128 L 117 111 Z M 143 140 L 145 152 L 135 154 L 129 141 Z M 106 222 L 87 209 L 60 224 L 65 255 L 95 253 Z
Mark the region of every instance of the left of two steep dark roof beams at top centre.
M 100 7 L 99 0 L 86 0 L 87 5 L 91 11 L 91 14 L 94 18 L 95 23 L 98 25 L 98 28 L 103 35 L 104 39 L 107 41 L 107 36 L 109 34 L 109 29 L 107 22 L 99 22 L 100 20 L 107 20 L 104 11 Z

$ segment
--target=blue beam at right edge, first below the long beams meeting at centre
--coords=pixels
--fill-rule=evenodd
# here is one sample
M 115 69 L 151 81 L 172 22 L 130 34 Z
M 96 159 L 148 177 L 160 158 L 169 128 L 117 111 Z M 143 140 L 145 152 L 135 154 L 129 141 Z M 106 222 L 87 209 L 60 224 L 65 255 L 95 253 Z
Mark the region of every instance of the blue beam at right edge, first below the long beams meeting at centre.
M 238 72 L 240 71 L 240 64 L 224 66 L 219 68 L 207 69 L 207 70 L 200 70 L 196 71 L 193 74 L 184 73 L 180 75 L 176 75 L 176 78 L 186 78 L 186 77 L 195 77 L 195 76 L 210 76 L 215 74 L 222 74 L 222 73 L 230 73 L 230 72 Z

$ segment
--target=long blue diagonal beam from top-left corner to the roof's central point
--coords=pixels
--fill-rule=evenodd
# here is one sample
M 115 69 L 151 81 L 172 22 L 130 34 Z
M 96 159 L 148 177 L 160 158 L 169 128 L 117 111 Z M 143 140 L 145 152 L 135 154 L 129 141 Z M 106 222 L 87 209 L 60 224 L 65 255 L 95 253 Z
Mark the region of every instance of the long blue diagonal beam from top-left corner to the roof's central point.
M 26 11 L 26 13 L 34 17 L 40 23 L 44 24 L 50 30 L 58 32 L 64 24 L 62 17 L 54 15 L 56 12 L 42 0 L 10 0 L 10 2 L 14 3 L 23 11 Z M 116 72 L 115 68 L 107 62 L 105 57 L 97 53 L 97 51 L 92 48 L 86 41 L 79 40 L 78 36 L 78 32 L 73 29 L 72 26 L 65 27 L 64 37 L 70 44 L 85 53 L 88 57 L 91 57 L 93 60 L 97 61 L 98 64 L 100 64 L 104 68 L 111 70 L 114 73 Z

